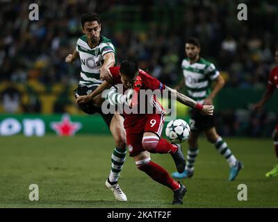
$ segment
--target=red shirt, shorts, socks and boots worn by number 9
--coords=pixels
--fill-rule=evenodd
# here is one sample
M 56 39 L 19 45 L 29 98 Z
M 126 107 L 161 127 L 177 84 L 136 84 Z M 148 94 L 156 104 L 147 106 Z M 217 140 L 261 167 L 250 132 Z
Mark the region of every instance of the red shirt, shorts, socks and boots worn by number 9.
M 113 85 L 122 84 L 120 67 L 111 67 L 109 69 L 113 76 Z M 145 71 L 139 69 L 138 78 L 136 78 L 133 90 L 138 91 L 139 89 L 150 89 L 152 92 L 158 89 L 158 92 L 161 93 L 163 89 L 165 89 L 165 85 L 147 74 Z M 125 91 L 126 89 L 124 88 L 124 92 Z M 131 100 L 131 104 L 136 104 L 133 108 L 136 108 L 139 112 L 124 113 L 124 128 L 126 129 L 126 144 L 129 148 L 129 155 L 131 157 L 136 156 L 144 151 L 149 151 L 149 153 L 169 153 L 172 155 L 178 171 L 183 171 L 184 167 L 186 167 L 186 161 L 184 160 L 181 148 L 179 148 L 180 146 L 170 144 L 166 139 L 160 138 L 165 116 L 165 111 L 163 110 L 162 105 L 156 101 L 156 96 L 154 94 L 147 95 L 147 100 L 145 100 L 146 95 L 145 98 L 143 98 L 144 96 L 140 96 L 142 96 L 142 94 L 139 93 L 138 95 L 133 96 Z M 134 98 L 137 100 L 133 100 Z M 144 105 L 146 105 L 145 108 Z M 152 112 L 149 113 L 147 112 L 148 110 L 151 110 Z M 123 111 L 126 112 L 126 110 Z M 155 133 L 158 137 L 144 137 L 145 132 Z M 172 191 L 174 191 L 173 203 L 182 203 L 181 198 L 186 192 L 185 187 L 171 178 L 169 173 L 167 173 L 163 167 L 152 162 L 150 157 L 145 157 L 143 160 L 137 160 L 136 167 L 140 171 L 147 173 L 147 175 L 156 182 L 172 189 Z

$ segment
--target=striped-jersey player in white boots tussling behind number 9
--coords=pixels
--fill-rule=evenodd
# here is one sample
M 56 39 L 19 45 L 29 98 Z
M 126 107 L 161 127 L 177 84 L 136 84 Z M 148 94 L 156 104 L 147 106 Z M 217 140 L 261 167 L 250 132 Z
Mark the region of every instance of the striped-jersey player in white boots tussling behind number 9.
M 99 15 L 87 13 L 81 17 L 83 33 L 76 43 L 76 49 L 65 58 L 65 62 L 72 63 L 77 58 L 81 60 L 81 73 L 79 86 L 75 90 L 75 97 L 90 94 L 103 80 L 113 80 L 109 67 L 115 65 L 115 47 L 111 40 L 100 35 L 101 23 Z M 117 184 L 126 156 L 126 135 L 124 119 L 118 114 L 104 114 L 101 112 L 101 104 L 83 103 L 79 108 L 87 114 L 99 113 L 110 128 L 115 139 L 115 149 L 111 157 L 111 172 L 106 180 L 106 187 L 113 191 L 115 198 L 126 201 L 126 195 Z

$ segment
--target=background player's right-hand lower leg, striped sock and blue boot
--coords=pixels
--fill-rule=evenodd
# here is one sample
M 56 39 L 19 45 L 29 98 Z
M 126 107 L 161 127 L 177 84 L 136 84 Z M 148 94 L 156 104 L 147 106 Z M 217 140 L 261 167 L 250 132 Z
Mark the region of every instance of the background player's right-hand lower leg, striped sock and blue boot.
M 227 160 L 230 167 L 229 180 L 234 180 L 236 176 L 238 176 L 238 173 L 243 167 L 243 164 L 240 161 L 236 160 L 236 157 L 228 148 L 227 143 L 224 142 L 224 140 L 222 139 L 222 137 L 220 137 L 220 135 L 218 135 L 218 133 L 216 133 L 215 127 L 205 130 L 205 133 L 208 142 L 214 144 L 218 152 Z

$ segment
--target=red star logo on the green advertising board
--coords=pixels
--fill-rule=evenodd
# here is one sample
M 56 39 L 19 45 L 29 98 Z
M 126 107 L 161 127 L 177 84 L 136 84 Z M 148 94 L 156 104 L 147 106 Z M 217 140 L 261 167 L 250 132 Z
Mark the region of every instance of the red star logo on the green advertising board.
M 82 127 L 81 123 L 72 122 L 68 114 L 63 114 L 60 122 L 51 122 L 50 126 L 59 136 L 72 136 Z

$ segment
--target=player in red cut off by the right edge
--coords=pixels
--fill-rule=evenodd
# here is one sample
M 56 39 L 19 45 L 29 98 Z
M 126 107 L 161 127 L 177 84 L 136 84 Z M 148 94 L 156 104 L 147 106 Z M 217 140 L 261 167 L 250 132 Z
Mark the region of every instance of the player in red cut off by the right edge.
M 278 63 L 278 50 L 275 51 L 275 61 Z M 259 110 L 265 104 L 265 102 L 271 98 L 275 89 L 278 89 L 278 67 L 275 67 L 274 69 L 272 69 L 272 71 L 270 71 L 266 91 L 263 94 L 263 98 L 254 105 L 254 109 Z M 272 139 L 275 146 L 276 157 L 278 158 L 278 124 L 276 125 L 272 133 Z M 265 176 L 268 178 L 278 176 L 278 163 L 271 171 L 266 173 Z

